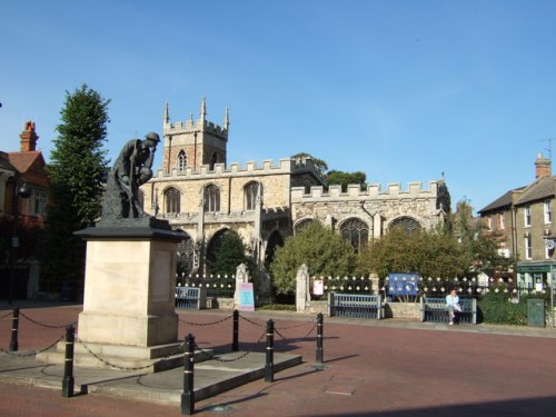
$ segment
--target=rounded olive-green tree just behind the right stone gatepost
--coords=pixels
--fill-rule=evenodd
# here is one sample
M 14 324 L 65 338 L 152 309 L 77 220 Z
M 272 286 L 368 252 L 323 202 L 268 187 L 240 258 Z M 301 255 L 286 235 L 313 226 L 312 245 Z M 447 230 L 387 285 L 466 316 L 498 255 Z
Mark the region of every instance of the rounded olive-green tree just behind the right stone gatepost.
M 276 294 L 291 295 L 296 291 L 297 270 L 301 265 L 307 265 L 312 275 L 344 277 L 354 272 L 355 260 L 351 246 L 315 220 L 276 249 L 270 276 Z

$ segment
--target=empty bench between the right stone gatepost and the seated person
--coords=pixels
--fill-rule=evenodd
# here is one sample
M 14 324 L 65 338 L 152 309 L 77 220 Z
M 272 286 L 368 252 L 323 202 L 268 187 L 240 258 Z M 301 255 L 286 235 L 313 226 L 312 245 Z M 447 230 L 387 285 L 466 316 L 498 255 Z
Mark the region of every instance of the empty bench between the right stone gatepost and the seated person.
M 384 318 L 381 296 L 328 294 L 328 315 L 336 317 Z

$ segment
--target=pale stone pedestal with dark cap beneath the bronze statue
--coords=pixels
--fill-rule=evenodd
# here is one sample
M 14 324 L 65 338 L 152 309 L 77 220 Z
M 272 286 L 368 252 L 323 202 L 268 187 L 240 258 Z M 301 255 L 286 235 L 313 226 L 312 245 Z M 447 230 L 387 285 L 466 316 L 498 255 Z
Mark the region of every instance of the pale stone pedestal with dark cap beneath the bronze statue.
M 77 232 L 87 240 L 77 365 L 106 367 L 80 357 L 95 354 L 116 366 L 140 367 L 183 351 L 175 312 L 176 251 L 183 236 L 163 222 L 136 222 Z

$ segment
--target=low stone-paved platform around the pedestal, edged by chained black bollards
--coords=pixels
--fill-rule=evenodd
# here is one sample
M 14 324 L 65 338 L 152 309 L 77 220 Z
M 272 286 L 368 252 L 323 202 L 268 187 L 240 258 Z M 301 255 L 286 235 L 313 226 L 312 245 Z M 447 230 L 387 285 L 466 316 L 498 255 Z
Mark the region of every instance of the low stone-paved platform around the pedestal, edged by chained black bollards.
M 274 371 L 302 363 L 300 355 L 275 354 Z M 195 365 L 193 393 L 202 400 L 265 377 L 266 354 L 237 351 L 215 355 Z M 0 381 L 30 384 L 61 390 L 64 367 L 36 360 L 32 353 L 1 353 Z M 75 393 L 99 393 L 129 399 L 180 405 L 183 368 L 160 373 L 123 371 L 100 368 L 73 368 Z

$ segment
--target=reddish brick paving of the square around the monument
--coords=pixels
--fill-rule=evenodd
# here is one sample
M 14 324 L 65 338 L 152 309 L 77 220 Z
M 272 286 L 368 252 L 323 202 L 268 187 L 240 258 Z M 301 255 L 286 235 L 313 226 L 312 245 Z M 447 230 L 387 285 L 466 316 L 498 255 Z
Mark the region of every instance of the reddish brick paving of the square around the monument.
M 81 306 L 22 309 L 49 325 L 77 320 Z M 0 317 L 9 310 L 0 308 Z M 181 311 L 180 311 L 181 312 Z M 229 349 L 225 311 L 180 314 L 180 336 L 200 347 Z M 314 318 L 242 314 L 240 348 L 249 350 L 272 317 L 276 350 L 305 363 L 196 404 L 199 416 L 550 416 L 556 409 L 556 330 L 407 324 L 325 318 L 325 364 L 315 364 Z M 211 325 L 218 320 L 224 321 Z M 0 320 L 0 347 L 10 322 Z M 39 349 L 63 329 L 22 319 L 20 350 Z M 179 407 L 89 394 L 62 398 L 56 389 L 0 384 L 1 416 L 179 416 Z

